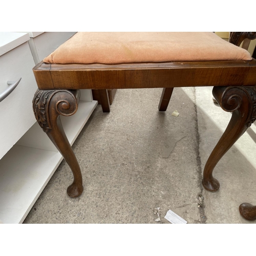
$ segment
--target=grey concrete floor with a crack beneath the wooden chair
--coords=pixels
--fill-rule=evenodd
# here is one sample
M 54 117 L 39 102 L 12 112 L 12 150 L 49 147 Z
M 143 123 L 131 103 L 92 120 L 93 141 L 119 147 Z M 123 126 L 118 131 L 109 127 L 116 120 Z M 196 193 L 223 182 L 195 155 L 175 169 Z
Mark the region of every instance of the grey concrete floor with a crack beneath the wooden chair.
M 63 160 L 24 223 L 170 223 L 170 209 L 187 223 L 255 224 L 238 210 L 256 204 L 254 124 L 216 166 L 220 189 L 211 193 L 201 184 L 231 117 L 213 103 L 211 90 L 176 88 L 166 112 L 158 112 L 162 89 L 117 90 L 111 112 L 98 105 L 73 144 L 82 195 L 68 197 L 73 177 Z

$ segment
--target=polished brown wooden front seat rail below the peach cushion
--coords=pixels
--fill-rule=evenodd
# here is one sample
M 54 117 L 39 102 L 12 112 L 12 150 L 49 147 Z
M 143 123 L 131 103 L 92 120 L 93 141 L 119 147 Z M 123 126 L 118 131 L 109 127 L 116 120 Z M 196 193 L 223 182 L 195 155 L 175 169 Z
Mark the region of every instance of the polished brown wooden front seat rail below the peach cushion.
M 50 68 L 50 72 L 48 71 Z M 47 72 L 46 72 L 47 70 Z M 40 90 L 253 86 L 256 60 L 163 63 L 48 64 L 33 69 Z M 52 82 L 49 83 L 49 80 Z

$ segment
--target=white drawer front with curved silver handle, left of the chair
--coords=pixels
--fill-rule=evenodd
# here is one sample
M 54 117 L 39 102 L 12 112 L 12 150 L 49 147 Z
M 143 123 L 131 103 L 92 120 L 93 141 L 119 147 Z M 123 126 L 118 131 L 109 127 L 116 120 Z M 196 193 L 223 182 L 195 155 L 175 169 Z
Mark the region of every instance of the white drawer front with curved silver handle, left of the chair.
M 0 93 L 8 87 L 8 80 L 22 77 L 14 91 L 0 102 L 0 159 L 36 121 L 32 110 L 37 89 L 34 66 L 28 42 L 0 57 Z

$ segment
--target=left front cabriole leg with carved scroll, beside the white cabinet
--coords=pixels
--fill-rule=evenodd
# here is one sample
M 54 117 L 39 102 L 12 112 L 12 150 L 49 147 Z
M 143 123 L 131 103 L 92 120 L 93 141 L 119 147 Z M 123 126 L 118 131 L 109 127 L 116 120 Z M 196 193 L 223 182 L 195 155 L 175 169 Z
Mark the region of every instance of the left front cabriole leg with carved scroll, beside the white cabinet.
M 78 197 L 82 194 L 82 175 L 59 115 L 71 116 L 75 114 L 79 98 L 79 90 L 37 90 L 33 99 L 33 110 L 37 122 L 65 158 L 73 172 L 74 181 L 67 189 L 70 197 Z

